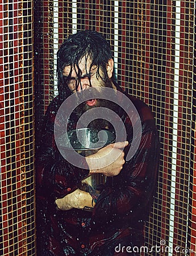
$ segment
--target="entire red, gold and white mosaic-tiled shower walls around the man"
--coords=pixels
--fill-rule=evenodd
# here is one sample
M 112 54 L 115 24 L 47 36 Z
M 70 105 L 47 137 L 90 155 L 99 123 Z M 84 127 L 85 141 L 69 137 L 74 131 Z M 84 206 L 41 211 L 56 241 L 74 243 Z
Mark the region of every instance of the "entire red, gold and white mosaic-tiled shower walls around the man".
M 155 114 L 161 160 L 141 255 L 196 255 L 193 0 L 0 3 L 0 255 L 36 255 L 35 152 L 69 34 L 110 40 L 115 76 Z

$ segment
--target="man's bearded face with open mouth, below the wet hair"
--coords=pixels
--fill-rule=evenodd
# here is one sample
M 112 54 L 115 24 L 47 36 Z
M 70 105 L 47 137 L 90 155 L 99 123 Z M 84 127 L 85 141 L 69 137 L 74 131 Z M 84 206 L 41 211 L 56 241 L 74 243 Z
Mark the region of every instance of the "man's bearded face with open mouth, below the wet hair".
M 72 93 L 76 92 L 84 92 L 85 89 L 88 89 L 90 87 L 93 88 L 104 88 L 104 87 L 109 87 L 113 88 L 114 84 L 111 81 L 112 77 L 112 71 L 114 67 L 114 61 L 111 59 L 109 60 L 109 63 L 106 65 L 106 71 L 107 71 L 107 77 L 104 77 L 101 72 L 101 76 L 97 76 L 97 66 L 91 65 L 91 60 L 88 57 L 83 57 L 81 61 L 79 62 L 77 67 L 70 67 L 67 66 L 64 68 L 63 75 L 67 78 L 68 80 L 68 88 Z M 78 76 L 80 74 L 80 76 Z M 104 79 L 101 79 L 101 77 L 104 77 Z M 99 90 L 98 89 L 98 90 Z M 101 91 L 101 90 L 100 90 Z M 78 96 L 80 97 L 80 96 Z M 91 96 L 90 96 L 91 97 Z M 117 112 L 117 106 L 111 101 L 108 100 L 103 100 L 102 98 L 91 98 L 91 100 L 87 100 L 82 102 L 82 104 L 78 105 L 77 108 L 74 110 L 74 114 L 76 114 L 77 118 L 80 118 L 82 114 L 87 112 L 87 110 L 93 109 L 93 108 L 106 108 L 104 116 L 109 116 L 109 110 L 112 110 L 114 112 Z M 79 102 L 82 100 L 82 93 L 81 93 L 81 98 Z M 94 129 L 112 129 L 112 125 L 109 121 L 105 119 L 97 119 L 96 114 L 94 112 L 91 112 L 91 121 L 89 123 L 88 127 L 94 128 Z

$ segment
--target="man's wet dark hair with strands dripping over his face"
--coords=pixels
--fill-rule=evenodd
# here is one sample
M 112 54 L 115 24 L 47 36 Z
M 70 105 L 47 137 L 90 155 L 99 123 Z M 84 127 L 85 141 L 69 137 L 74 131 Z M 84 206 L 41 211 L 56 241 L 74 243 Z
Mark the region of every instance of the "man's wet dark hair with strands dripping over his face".
M 72 68 L 74 68 L 78 77 L 77 86 L 80 85 L 82 72 L 78 67 L 78 63 L 84 56 L 86 60 L 90 57 L 90 69 L 93 65 L 97 66 L 96 76 L 101 78 L 103 81 L 106 81 L 106 65 L 108 61 L 112 59 L 110 44 L 107 40 L 100 33 L 91 30 L 81 31 L 77 34 L 70 35 L 69 38 L 62 43 L 59 51 L 57 52 L 58 90 L 59 96 L 62 100 L 71 94 L 67 84 L 72 73 Z M 68 77 L 64 77 L 62 75 L 66 66 L 71 67 Z M 90 72 L 86 71 L 86 73 Z

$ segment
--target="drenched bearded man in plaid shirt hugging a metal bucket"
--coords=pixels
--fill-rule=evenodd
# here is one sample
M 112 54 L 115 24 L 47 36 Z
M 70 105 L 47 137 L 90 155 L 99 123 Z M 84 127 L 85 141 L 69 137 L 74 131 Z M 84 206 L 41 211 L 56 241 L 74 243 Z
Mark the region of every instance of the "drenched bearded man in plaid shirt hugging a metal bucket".
M 113 69 L 110 46 L 95 31 L 69 36 L 57 53 L 59 96 L 48 106 L 37 152 L 37 255 L 139 255 L 159 165 L 159 136 L 149 108 L 127 96 L 139 114 L 141 141 L 126 162 L 133 125 L 128 114 L 111 101 L 86 100 L 70 116 L 68 129 L 73 130 L 86 110 L 104 106 L 116 112 L 126 127 L 127 139 L 86 156 L 86 168 L 69 163 L 54 139 L 56 114 L 73 93 L 92 87 L 125 94 L 112 79 Z M 95 118 L 89 127 L 112 130 L 103 118 Z M 97 159 L 99 163 L 105 159 L 100 168 Z M 78 184 L 94 173 L 107 176 L 105 187 L 100 193 L 82 191 Z M 84 210 L 85 206 L 93 211 Z

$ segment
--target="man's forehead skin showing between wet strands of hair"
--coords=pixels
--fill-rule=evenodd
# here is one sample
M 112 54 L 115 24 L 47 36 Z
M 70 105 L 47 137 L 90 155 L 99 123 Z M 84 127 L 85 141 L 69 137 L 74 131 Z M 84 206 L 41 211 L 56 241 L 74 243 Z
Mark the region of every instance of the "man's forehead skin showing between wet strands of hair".
M 82 75 L 84 75 L 90 71 L 91 62 L 92 61 L 91 61 L 90 57 L 87 57 L 87 59 L 86 59 L 86 56 L 82 57 L 82 59 L 79 61 L 78 67 L 81 70 Z M 72 73 L 71 73 L 72 77 L 77 76 L 76 72 L 78 72 L 78 67 L 76 65 L 75 65 L 75 67 L 72 67 Z M 93 66 L 91 69 L 93 69 L 94 67 L 95 66 Z M 64 71 L 62 72 L 62 75 L 69 76 L 70 71 L 71 71 L 71 66 L 66 66 L 64 68 Z

